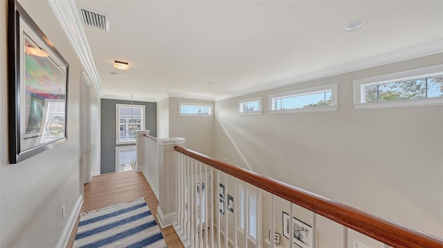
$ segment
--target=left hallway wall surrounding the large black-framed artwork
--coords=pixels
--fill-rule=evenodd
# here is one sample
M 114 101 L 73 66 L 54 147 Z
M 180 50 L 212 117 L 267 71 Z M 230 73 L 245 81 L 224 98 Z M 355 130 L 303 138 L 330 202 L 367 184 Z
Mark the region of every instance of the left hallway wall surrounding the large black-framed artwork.
M 0 247 L 55 247 L 83 186 L 78 123 L 81 66 L 48 3 L 20 2 L 69 63 L 68 141 L 19 164 L 8 164 L 6 1 L 1 1 Z

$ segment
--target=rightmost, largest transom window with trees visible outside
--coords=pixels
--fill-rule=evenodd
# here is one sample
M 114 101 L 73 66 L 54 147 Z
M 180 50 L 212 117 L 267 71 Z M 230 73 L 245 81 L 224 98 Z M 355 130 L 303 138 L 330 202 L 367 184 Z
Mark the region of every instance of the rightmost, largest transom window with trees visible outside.
M 443 104 L 443 66 L 354 80 L 354 102 L 356 109 Z

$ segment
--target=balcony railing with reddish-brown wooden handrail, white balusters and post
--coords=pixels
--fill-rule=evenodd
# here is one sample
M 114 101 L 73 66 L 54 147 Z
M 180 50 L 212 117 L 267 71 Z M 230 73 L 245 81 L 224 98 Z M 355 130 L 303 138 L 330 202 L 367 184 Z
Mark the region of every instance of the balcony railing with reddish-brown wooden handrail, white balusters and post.
M 173 225 L 186 247 L 443 247 L 441 238 L 214 160 L 177 141 L 181 144 L 170 142 L 159 155 L 165 189 L 160 186 L 158 210 L 161 224 Z M 280 244 L 269 241 L 275 232 Z M 326 232 L 340 233 L 340 244 L 325 240 Z

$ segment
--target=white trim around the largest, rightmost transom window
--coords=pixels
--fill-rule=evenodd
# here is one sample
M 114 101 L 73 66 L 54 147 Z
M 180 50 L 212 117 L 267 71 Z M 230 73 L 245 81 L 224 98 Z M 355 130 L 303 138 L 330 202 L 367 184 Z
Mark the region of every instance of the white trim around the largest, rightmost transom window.
M 405 70 L 399 73 L 390 73 L 374 77 L 366 77 L 354 80 L 354 110 L 376 109 L 376 108 L 407 108 L 416 106 L 438 106 L 443 105 L 443 97 L 406 99 L 388 102 L 365 102 L 363 85 L 387 84 L 392 82 L 401 82 L 408 79 L 418 79 L 423 77 L 435 77 L 442 75 L 443 64 L 437 66 L 428 66 L 413 70 Z

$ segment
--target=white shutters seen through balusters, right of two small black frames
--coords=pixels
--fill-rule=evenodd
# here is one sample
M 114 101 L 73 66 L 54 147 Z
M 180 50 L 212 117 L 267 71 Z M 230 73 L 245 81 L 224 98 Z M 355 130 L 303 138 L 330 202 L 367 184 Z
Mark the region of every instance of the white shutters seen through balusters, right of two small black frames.
M 246 214 L 248 218 L 248 236 L 255 240 L 257 238 L 257 216 L 258 216 L 258 204 L 255 196 L 251 195 L 251 193 L 246 192 L 247 201 L 246 201 Z M 239 216 L 239 228 L 244 231 L 244 191 L 240 189 L 239 192 L 239 207 L 240 207 L 240 216 Z

